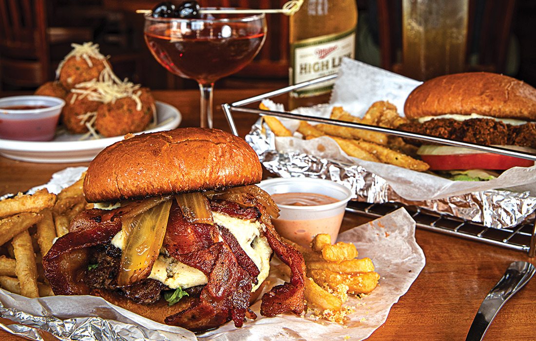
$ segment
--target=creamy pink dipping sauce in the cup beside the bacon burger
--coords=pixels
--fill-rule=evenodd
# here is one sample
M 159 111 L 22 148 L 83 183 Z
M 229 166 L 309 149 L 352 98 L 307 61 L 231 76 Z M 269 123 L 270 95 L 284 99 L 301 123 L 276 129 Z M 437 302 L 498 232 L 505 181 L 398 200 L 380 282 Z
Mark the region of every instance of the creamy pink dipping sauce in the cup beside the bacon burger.
M 272 198 L 277 204 L 292 206 L 318 206 L 338 202 L 335 198 L 316 193 L 272 194 Z M 329 234 L 333 243 L 337 240 L 344 211 L 325 218 L 315 218 L 315 213 L 311 212 L 310 217 L 311 219 L 304 220 L 275 219 L 272 222 L 281 236 L 302 246 L 309 246 L 312 238 L 319 233 Z

